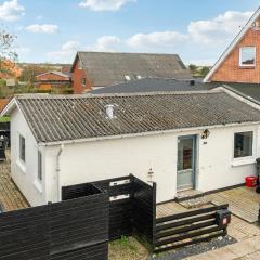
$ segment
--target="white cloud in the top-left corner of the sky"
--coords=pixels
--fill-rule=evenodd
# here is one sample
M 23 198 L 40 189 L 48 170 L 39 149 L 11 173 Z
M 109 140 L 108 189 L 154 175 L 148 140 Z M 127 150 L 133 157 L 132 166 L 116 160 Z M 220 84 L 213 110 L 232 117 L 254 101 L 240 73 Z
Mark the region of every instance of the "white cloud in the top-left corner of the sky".
M 14 22 L 21 18 L 25 13 L 25 8 L 18 4 L 17 0 L 5 1 L 0 5 L 0 20 Z

